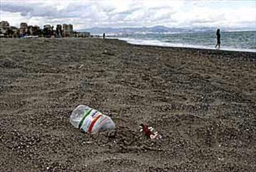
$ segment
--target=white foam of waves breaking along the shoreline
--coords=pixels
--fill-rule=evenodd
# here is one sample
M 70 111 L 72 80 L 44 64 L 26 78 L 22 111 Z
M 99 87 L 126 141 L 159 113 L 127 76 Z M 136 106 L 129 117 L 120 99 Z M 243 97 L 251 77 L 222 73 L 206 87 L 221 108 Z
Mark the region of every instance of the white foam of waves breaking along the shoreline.
M 197 48 L 197 49 L 216 49 L 209 46 L 198 46 L 198 45 L 191 45 L 191 44 L 181 44 L 181 43 L 165 43 L 158 40 L 145 40 L 145 39 L 132 39 L 132 38 L 116 38 L 122 41 L 126 41 L 130 44 L 137 44 L 137 45 L 148 45 L 148 46 L 164 46 L 164 47 L 190 47 L 190 48 Z M 243 52 L 256 52 L 256 49 L 237 49 L 233 47 L 221 47 L 220 50 L 224 51 L 243 51 Z

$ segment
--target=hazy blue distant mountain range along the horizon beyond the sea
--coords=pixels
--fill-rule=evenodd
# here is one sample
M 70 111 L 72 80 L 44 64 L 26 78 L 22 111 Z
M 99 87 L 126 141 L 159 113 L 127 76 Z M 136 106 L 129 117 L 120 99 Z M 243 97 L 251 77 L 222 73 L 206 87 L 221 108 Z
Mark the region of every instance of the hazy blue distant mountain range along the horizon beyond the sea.
M 82 30 L 76 31 L 88 31 L 92 35 L 102 35 L 106 33 L 106 35 L 133 35 L 133 34 L 146 34 L 146 33 L 186 33 L 186 32 L 212 32 L 215 31 L 216 28 L 208 28 L 208 27 L 201 27 L 201 28 L 169 28 L 164 26 L 155 26 L 155 27 L 126 27 L 126 28 L 87 28 Z M 229 30 L 228 28 L 222 30 Z M 233 30 L 236 30 L 233 28 Z

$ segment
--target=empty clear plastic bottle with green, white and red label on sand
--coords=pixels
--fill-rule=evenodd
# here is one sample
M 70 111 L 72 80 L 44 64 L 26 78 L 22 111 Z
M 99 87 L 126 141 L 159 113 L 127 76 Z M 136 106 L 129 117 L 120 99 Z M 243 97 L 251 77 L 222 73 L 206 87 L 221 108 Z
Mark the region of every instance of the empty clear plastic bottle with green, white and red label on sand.
M 79 105 L 70 115 L 70 123 L 85 133 L 99 133 L 116 128 L 113 120 L 87 105 Z

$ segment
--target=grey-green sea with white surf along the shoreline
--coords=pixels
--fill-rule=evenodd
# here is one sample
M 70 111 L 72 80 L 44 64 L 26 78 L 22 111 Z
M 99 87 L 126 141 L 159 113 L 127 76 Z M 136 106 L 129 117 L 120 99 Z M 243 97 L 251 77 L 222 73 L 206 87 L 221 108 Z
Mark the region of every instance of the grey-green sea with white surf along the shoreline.
M 215 32 L 134 33 L 111 35 L 131 44 L 215 49 Z M 256 52 L 256 31 L 221 32 L 221 50 Z

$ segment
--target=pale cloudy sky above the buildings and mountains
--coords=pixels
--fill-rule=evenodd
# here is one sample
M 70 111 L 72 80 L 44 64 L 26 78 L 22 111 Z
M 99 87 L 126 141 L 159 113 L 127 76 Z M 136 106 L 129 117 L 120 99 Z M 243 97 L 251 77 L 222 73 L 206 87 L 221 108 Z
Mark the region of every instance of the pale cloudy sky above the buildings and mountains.
M 0 0 L 0 20 L 19 27 L 72 23 L 90 27 L 256 28 L 256 0 Z

